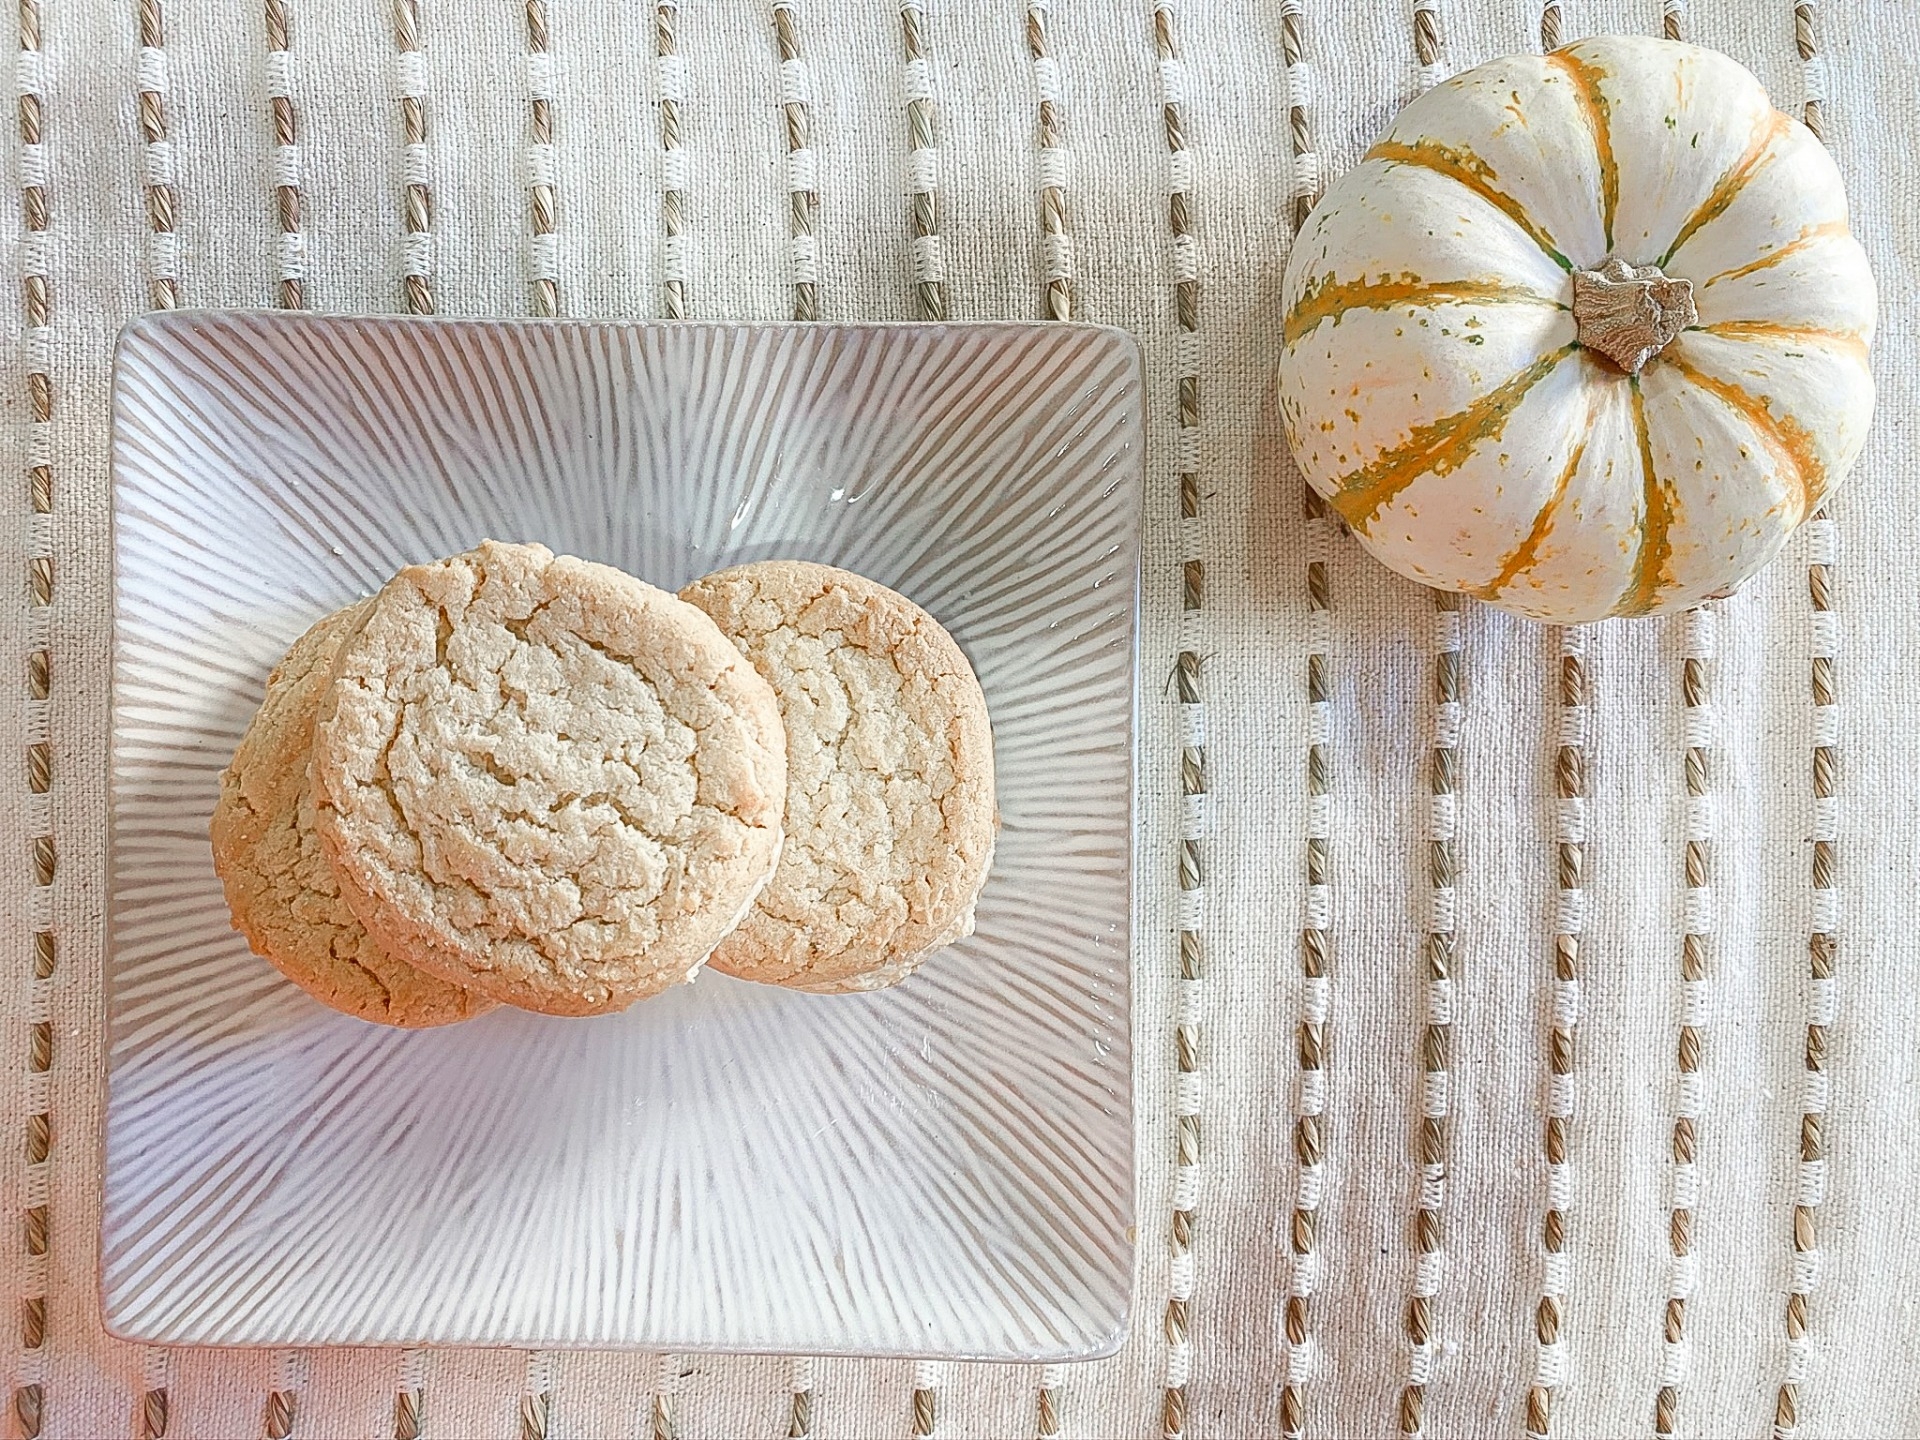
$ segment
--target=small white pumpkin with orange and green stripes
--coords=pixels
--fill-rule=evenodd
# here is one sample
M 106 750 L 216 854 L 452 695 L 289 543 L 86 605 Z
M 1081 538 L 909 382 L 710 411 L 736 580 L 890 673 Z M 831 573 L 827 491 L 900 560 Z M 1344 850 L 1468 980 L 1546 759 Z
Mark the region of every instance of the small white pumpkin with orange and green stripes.
M 1428 90 L 1286 267 L 1281 413 L 1394 570 L 1555 622 L 1728 593 L 1866 436 L 1874 278 L 1732 60 L 1597 36 Z

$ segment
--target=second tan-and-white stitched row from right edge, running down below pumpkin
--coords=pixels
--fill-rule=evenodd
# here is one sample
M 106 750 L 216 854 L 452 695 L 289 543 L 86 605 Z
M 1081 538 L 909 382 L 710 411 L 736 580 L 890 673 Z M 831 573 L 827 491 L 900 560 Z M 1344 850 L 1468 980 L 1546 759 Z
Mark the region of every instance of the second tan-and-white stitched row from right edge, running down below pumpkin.
M 1680 703 L 1686 716 L 1686 895 L 1680 937 L 1680 1029 L 1674 1043 L 1672 1206 L 1667 1213 L 1668 1283 L 1661 1386 L 1653 1396 L 1653 1432 L 1672 1434 L 1686 1384 L 1686 1306 L 1693 1292 L 1693 1210 L 1699 1200 L 1701 1064 L 1707 1048 L 1707 968 L 1711 960 L 1713 835 L 1709 787 L 1713 783 L 1713 710 L 1707 703 L 1707 662 L 1713 657 L 1713 607 L 1701 605 L 1682 618 Z

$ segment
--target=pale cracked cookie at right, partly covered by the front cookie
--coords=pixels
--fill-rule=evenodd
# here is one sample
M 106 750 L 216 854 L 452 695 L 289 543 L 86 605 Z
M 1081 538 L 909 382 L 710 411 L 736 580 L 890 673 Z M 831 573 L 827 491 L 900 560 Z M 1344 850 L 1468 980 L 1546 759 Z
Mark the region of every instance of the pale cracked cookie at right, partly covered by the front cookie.
M 879 989 L 972 933 L 993 858 L 993 732 L 952 636 L 826 564 L 741 564 L 680 593 L 753 659 L 787 726 L 787 849 L 714 970 Z

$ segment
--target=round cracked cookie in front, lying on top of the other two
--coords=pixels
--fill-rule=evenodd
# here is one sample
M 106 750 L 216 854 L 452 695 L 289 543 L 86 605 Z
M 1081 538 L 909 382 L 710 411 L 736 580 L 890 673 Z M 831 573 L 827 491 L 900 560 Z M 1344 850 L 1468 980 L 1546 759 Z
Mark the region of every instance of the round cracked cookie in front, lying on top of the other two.
M 695 607 L 545 545 L 401 570 L 340 651 L 315 829 L 367 931 L 524 1010 L 691 979 L 780 852 L 780 707 Z

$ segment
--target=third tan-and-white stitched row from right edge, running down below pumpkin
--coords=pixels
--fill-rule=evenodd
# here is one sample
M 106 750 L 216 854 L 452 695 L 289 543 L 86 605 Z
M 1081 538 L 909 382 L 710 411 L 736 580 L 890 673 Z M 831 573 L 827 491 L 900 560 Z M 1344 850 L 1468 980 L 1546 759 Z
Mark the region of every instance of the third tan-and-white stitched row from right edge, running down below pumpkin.
M 1546 1212 L 1540 1219 L 1540 1300 L 1534 1306 L 1534 1340 L 1540 1346 L 1534 1384 L 1526 1392 L 1526 1434 L 1553 1428 L 1553 1396 L 1567 1373 L 1567 1286 L 1571 1279 L 1569 1233 L 1572 1171 L 1574 1025 L 1580 1018 L 1580 929 L 1586 918 L 1586 730 L 1588 730 L 1586 630 L 1559 632 L 1559 747 L 1553 755 L 1557 806 L 1553 881 L 1559 889 L 1559 924 L 1553 935 L 1551 1014 L 1548 1021 L 1548 1092 L 1542 1129 L 1546 1162 Z

